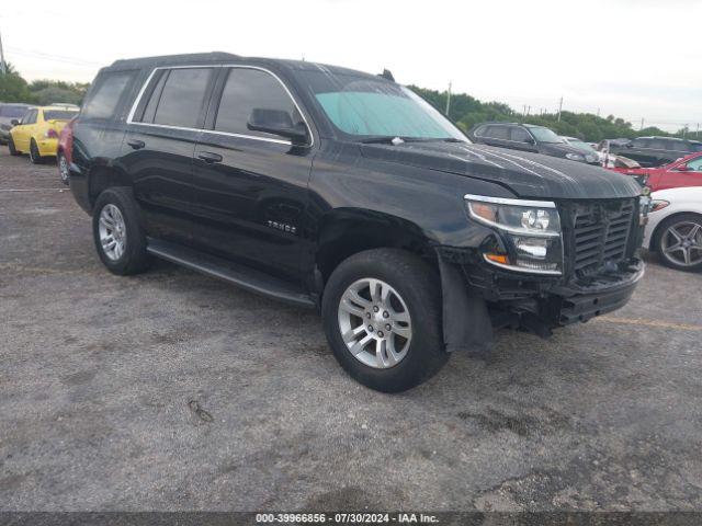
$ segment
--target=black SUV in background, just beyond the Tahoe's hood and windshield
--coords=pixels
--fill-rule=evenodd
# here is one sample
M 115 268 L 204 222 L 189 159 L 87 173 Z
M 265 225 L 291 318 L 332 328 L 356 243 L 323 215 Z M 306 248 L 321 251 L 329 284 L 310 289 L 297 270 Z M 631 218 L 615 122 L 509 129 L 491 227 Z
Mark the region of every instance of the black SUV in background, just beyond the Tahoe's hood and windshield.
M 596 155 L 586 153 L 581 149 L 568 145 L 552 129 L 544 126 L 518 123 L 483 123 L 473 126 L 468 132 L 468 137 L 474 142 L 482 145 L 562 157 L 588 164 L 600 163 Z

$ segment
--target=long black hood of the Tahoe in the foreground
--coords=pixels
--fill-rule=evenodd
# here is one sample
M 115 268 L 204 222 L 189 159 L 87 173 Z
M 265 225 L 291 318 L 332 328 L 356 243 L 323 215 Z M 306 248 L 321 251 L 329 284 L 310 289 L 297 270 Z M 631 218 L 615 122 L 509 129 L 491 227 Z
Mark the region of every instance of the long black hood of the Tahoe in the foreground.
M 632 178 L 584 162 L 465 142 L 361 145 L 369 159 L 438 170 L 500 184 L 524 198 L 635 197 Z

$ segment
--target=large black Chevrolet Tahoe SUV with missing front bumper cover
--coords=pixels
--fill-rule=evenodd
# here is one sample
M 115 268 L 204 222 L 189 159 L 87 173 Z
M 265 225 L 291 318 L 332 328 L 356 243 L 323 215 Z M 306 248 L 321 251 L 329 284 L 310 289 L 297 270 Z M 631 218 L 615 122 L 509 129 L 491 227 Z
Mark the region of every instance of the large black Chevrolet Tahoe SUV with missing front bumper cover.
M 644 272 L 631 178 L 473 145 L 407 88 L 332 66 L 118 60 L 75 122 L 70 172 L 110 271 L 158 256 L 320 309 L 342 367 L 383 391 L 495 327 L 614 310 Z

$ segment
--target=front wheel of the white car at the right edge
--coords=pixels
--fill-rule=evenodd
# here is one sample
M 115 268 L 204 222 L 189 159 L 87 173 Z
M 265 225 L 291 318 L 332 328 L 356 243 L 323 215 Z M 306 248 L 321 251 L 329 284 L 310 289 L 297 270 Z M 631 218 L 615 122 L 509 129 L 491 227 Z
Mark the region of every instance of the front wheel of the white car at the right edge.
M 677 271 L 702 268 L 702 215 L 679 214 L 665 219 L 656 231 L 654 248 L 664 265 Z

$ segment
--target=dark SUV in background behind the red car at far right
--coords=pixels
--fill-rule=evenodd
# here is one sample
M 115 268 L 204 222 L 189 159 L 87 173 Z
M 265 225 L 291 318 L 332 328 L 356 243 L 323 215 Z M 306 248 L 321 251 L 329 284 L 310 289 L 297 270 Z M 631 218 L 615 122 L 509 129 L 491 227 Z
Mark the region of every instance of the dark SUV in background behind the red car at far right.
M 702 142 L 672 137 L 638 137 L 624 144 L 610 141 L 610 153 L 635 160 L 644 168 L 660 167 L 702 151 Z

